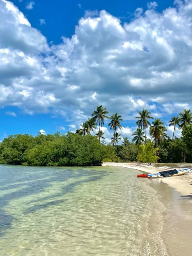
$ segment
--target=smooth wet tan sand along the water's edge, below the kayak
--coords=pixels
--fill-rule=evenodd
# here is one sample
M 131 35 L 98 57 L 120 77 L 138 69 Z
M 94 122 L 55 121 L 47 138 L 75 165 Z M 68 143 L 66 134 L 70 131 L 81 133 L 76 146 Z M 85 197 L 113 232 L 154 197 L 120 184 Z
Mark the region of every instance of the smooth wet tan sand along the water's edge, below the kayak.
M 191 256 L 192 205 L 189 203 L 190 199 L 167 186 L 161 179 L 150 179 L 150 186 L 157 191 L 160 195 L 158 199 L 166 207 L 166 210 L 162 212 L 161 237 L 169 254 Z

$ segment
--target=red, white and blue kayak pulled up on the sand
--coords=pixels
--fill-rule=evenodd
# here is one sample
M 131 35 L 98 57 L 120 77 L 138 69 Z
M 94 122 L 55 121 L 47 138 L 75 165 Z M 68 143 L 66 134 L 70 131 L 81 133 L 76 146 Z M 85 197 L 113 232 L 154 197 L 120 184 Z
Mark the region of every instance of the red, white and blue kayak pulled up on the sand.
M 188 173 L 191 171 L 190 168 L 184 168 L 184 169 L 173 169 L 168 171 L 161 171 L 158 173 L 146 173 L 146 174 L 139 174 L 137 175 L 138 178 L 167 178 L 171 176 L 179 176 Z

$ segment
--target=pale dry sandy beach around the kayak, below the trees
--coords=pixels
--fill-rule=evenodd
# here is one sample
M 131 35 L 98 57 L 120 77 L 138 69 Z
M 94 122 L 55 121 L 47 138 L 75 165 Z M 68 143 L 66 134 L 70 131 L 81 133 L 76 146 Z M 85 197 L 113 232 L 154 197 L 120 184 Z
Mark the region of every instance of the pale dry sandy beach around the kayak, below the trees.
M 161 167 L 155 167 L 155 164 L 143 164 L 139 162 L 129 162 L 129 163 L 115 163 L 115 162 L 104 162 L 102 166 L 119 166 L 119 167 L 125 167 L 130 169 L 136 169 L 141 172 L 145 173 L 157 173 L 158 171 L 163 170 L 169 170 L 174 169 L 175 167 L 167 167 L 167 166 L 161 166 Z M 192 164 L 181 164 L 179 168 L 192 168 Z M 178 168 L 178 167 L 177 167 Z M 176 191 L 178 191 L 183 196 L 186 196 L 187 198 L 192 199 L 192 171 L 186 175 L 181 176 L 175 176 L 175 177 L 169 177 L 169 178 L 160 178 L 162 182 L 167 183 L 169 186 L 174 188 Z M 192 202 L 192 200 L 191 200 Z

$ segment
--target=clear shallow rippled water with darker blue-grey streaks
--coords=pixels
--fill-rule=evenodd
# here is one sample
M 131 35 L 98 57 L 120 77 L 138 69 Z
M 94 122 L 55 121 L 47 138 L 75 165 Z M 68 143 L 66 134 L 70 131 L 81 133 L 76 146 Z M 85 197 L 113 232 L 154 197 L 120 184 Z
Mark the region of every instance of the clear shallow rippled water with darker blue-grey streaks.
M 0 255 L 168 256 L 165 207 L 138 173 L 1 165 Z

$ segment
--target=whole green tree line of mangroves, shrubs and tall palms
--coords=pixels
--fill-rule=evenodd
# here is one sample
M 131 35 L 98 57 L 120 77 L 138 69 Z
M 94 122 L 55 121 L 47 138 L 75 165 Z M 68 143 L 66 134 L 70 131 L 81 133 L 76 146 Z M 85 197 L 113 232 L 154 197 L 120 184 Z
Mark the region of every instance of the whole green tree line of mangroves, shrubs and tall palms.
M 150 111 L 143 109 L 137 119 L 138 128 L 132 133 L 133 139 L 123 138 L 117 145 L 122 129 L 122 116 L 118 113 L 108 117 L 109 112 L 102 105 L 97 106 L 91 118 L 81 125 L 75 133 L 67 134 L 29 134 L 11 135 L 0 143 L 0 164 L 22 164 L 32 166 L 88 166 L 102 162 L 192 162 L 192 113 L 184 109 L 169 121 L 174 126 L 172 139 L 166 134 L 166 127 L 160 119 L 154 119 Z M 106 145 L 104 132 L 105 119 L 113 130 L 111 143 Z M 152 122 L 150 123 L 150 120 Z M 98 126 L 95 135 L 94 129 Z M 149 135 L 146 129 L 149 127 Z M 181 138 L 174 138 L 175 128 L 181 129 Z

